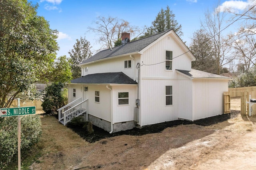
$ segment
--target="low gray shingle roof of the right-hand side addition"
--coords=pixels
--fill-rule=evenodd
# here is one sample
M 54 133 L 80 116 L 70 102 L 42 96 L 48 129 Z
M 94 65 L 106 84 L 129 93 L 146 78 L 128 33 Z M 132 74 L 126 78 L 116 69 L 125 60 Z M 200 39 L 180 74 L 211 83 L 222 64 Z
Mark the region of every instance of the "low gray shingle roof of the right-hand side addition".
M 200 70 L 196 70 L 196 69 L 191 69 L 191 71 L 188 70 L 178 70 L 179 72 L 182 72 L 188 76 L 191 76 L 193 78 L 227 78 L 230 79 L 230 77 L 226 77 L 226 76 L 220 76 L 217 74 L 212 74 L 209 72 L 204 72 L 204 71 L 200 71 Z

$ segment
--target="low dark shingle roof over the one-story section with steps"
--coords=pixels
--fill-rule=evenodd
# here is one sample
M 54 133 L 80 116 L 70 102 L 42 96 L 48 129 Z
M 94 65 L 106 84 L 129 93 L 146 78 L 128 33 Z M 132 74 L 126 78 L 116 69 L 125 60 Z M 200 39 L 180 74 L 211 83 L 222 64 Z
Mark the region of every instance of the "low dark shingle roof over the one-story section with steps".
M 81 84 L 137 84 L 123 72 L 104 72 L 82 76 L 70 81 Z

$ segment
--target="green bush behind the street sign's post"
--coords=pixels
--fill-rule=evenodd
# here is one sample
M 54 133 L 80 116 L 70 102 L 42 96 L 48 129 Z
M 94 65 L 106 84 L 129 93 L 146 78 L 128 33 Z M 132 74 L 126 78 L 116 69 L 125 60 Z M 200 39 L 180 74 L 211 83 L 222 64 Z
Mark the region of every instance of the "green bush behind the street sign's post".
M 38 142 L 42 132 L 39 115 L 21 116 L 21 151 L 25 152 Z M 18 117 L 0 118 L 0 169 L 4 168 L 18 154 Z

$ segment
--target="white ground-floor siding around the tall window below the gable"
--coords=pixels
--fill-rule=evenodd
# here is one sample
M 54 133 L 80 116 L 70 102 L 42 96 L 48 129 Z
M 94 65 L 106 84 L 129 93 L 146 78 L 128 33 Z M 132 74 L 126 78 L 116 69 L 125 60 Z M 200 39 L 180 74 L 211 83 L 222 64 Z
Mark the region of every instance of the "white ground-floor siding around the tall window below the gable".
M 141 126 L 178 119 L 177 81 L 142 79 L 140 86 Z M 166 106 L 165 86 L 172 86 L 172 106 Z

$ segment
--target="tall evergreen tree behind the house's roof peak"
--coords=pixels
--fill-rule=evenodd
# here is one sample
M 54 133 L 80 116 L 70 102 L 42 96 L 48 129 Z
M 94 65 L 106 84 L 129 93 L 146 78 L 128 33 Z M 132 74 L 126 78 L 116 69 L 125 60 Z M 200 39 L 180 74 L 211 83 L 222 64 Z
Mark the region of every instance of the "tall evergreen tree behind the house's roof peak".
M 173 29 L 180 37 L 183 35 L 182 26 L 175 20 L 175 14 L 172 13 L 169 6 L 166 7 L 166 10 L 161 8 L 156 19 L 152 21 L 152 26 L 148 27 L 146 33 L 143 36 L 140 36 L 139 39 L 168 29 Z

